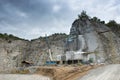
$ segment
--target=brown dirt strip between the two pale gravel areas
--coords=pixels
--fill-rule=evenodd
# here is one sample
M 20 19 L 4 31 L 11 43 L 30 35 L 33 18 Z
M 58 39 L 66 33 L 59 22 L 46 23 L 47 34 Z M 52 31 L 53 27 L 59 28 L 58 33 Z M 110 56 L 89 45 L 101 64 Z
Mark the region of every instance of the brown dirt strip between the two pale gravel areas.
M 97 67 L 100 67 L 100 65 L 40 67 L 37 69 L 37 74 L 49 76 L 53 80 L 76 80 L 86 75 L 89 70 Z

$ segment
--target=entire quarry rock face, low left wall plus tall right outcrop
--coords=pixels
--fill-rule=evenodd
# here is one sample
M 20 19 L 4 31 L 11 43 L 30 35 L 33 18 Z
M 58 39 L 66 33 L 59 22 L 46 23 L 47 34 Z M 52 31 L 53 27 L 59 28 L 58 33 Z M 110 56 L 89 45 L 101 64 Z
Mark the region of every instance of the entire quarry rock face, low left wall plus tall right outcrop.
M 93 21 L 85 14 L 75 20 L 70 35 L 49 36 L 49 46 L 54 60 L 64 51 L 89 53 L 94 62 L 120 63 L 120 39 L 105 24 Z M 69 41 L 69 43 L 66 42 Z M 48 45 L 45 38 L 32 41 L 4 40 L 0 38 L 0 71 L 21 67 L 22 61 L 33 65 L 44 65 L 49 60 Z

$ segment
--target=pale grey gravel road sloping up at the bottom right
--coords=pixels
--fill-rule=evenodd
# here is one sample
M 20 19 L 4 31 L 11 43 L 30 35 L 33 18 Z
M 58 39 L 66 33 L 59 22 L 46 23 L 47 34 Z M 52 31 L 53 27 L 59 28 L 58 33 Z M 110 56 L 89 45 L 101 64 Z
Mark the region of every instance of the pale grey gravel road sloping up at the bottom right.
M 120 80 L 120 64 L 99 67 L 77 80 Z

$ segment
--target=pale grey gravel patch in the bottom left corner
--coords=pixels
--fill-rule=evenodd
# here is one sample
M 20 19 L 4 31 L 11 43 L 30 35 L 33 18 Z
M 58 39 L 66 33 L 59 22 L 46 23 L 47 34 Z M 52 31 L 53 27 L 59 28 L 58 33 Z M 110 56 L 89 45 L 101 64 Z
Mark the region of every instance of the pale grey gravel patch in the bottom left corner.
M 40 75 L 0 74 L 0 80 L 50 80 Z

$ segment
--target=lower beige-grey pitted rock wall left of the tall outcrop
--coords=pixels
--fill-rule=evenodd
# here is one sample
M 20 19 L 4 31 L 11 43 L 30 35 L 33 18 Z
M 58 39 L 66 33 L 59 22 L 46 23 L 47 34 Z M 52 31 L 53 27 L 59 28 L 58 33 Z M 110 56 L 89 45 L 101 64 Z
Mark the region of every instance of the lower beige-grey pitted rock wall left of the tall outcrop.
M 49 36 L 49 44 L 54 60 L 56 55 L 64 53 L 65 34 Z M 46 39 L 32 41 L 0 38 L 0 72 L 22 67 L 22 61 L 27 61 L 35 66 L 44 65 L 49 60 Z

